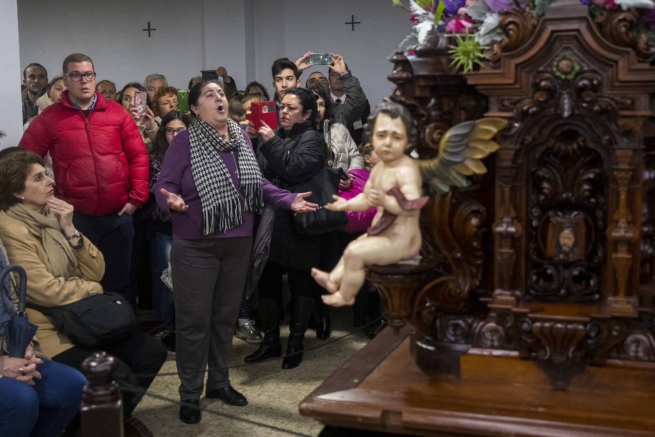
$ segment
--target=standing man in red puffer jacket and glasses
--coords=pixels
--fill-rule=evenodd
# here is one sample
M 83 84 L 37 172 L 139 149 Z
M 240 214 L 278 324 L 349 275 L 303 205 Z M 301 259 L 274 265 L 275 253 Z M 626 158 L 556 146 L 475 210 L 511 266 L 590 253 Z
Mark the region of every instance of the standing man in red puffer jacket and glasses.
M 36 117 L 20 147 L 50 152 L 56 195 L 75 208 L 73 224 L 105 257 L 103 289 L 134 303 L 130 262 L 132 214 L 148 199 L 148 155 L 136 123 L 120 104 L 96 92 L 93 61 L 64 60 L 62 101 Z

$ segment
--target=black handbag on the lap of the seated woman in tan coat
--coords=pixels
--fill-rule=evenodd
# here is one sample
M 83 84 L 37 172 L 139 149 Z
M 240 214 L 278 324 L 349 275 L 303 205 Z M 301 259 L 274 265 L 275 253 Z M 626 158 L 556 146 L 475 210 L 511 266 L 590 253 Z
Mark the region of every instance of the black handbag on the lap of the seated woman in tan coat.
M 55 330 L 64 331 L 73 344 L 103 347 L 126 338 L 136 326 L 132 306 L 116 293 L 94 294 L 61 307 L 35 307 L 52 316 Z

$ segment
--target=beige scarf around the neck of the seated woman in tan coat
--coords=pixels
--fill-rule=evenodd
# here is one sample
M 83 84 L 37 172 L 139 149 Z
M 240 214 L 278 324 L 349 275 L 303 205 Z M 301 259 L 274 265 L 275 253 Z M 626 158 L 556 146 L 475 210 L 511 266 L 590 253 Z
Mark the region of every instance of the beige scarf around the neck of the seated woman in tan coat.
M 43 244 L 43 249 L 52 267 L 52 271 L 50 271 L 52 276 L 72 278 L 81 275 L 77 265 L 77 257 L 73 253 L 68 240 L 62 234 L 59 220 L 50 212 L 47 206 L 43 210 L 43 214 L 39 214 L 26 208 L 23 204 L 17 203 L 11 206 L 6 214 L 10 218 L 21 221 L 35 237 L 41 239 L 41 244 Z

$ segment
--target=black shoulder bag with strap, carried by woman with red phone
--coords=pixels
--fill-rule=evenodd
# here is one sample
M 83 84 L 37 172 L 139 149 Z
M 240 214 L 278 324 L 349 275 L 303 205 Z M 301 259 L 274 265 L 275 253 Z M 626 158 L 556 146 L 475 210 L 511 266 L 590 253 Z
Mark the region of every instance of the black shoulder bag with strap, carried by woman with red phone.
M 325 123 L 324 126 L 324 132 L 327 132 L 327 149 L 331 150 L 331 134 L 328 123 Z M 314 212 L 293 213 L 295 231 L 301 235 L 318 235 L 338 231 L 348 223 L 345 212 L 330 211 L 324 207 L 325 204 L 334 201 L 333 195 L 339 194 L 339 180 L 345 172 L 342 168 L 326 166 L 326 149 L 323 150 L 322 162 L 322 168 L 310 180 L 298 183 L 293 187 L 295 193 L 311 191 L 312 194 L 306 200 L 319 205 Z

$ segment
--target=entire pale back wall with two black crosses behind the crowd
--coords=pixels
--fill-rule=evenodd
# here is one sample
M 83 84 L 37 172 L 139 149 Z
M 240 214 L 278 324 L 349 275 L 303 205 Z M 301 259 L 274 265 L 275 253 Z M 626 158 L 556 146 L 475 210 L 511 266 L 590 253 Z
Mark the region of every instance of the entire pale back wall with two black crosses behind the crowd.
M 350 14 L 362 22 L 355 31 L 344 24 Z M 94 60 L 98 80 L 119 88 L 149 73 L 182 88 L 201 69 L 224 66 L 240 88 L 257 80 L 271 90 L 276 58 L 333 51 L 343 54 L 371 105 L 390 94 L 386 58 L 411 27 L 391 0 L 114 0 L 86 7 L 18 0 L 18 22 L 20 65 L 40 62 L 50 77 L 61 73 L 67 54 L 83 52 Z M 141 31 L 147 22 L 157 28 L 151 38 Z

